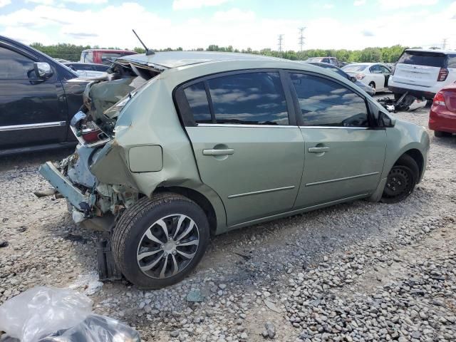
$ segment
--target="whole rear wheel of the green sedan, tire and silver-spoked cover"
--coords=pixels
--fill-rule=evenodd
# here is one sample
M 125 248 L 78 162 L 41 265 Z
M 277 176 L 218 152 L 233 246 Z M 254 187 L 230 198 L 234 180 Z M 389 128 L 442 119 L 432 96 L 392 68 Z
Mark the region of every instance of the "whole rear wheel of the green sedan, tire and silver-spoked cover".
M 192 200 L 162 193 L 138 201 L 113 232 L 113 256 L 126 279 L 160 289 L 195 269 L 209 243 L 209 223 Z

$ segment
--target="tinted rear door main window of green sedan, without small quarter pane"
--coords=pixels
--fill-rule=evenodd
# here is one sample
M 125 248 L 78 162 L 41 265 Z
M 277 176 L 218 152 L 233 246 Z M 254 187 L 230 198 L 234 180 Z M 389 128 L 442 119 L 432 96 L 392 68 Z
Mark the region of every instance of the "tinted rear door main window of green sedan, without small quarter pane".
M 217 123 L 287 125 L 279 73 L 240 73 L 207 81 Z

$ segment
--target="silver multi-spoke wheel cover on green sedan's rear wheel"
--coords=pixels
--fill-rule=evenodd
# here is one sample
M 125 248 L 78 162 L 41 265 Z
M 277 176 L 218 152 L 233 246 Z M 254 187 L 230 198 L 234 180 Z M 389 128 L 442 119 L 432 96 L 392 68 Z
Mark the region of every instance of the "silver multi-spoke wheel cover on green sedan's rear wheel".
M 138 266 L 151 278 L 175 276 L 190 264 L 198 245 L 199 231 L 193 219 L 183 214 L 162 217 L 140 239 Z

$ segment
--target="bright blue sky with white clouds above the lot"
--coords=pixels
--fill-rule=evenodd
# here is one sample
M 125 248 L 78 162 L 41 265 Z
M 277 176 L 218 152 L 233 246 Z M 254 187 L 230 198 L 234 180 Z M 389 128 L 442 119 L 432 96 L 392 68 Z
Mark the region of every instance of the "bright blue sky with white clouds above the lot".
M 236 48 L 456 48 L 455 0 L 0 0 L 0 34 L 24 43 Z

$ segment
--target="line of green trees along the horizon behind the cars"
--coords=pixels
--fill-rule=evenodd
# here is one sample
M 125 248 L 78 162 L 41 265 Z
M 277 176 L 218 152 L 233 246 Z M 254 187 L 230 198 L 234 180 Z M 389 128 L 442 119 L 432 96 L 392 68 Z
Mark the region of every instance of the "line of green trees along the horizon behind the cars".
M 79 61 L 81 52 L 88 48 L 100 48 L 99 46 L 82 46 L 68 43 L 58 43 L 54 45 L 43 45 L 41 43 L 32 43 L 32 48 L 42 51 L 53 58 L 63 58 L 68 61 Z M 107 48 L 119 49 L 116 46 Z M 264 56 L 281 57 L 291 60 L 304 61 L 310 57 L 336 57 L 343 62 L 383 62 L 395 63 L 398 61 L 400 54 L 407 48 L 406 46 L 394 45 L 383 48 L 363 48 L 362 50 L 346 50 L 346 49 L 308 49 L 303 51 L 274 51 L 270 48 L 261 50 L 253 50 L 252 48 L 239 50 L 232 46 L 209 45 L 207 48 L 195 48 L 193 51 L 225 51 L 237 53 L 254 53 Z M 144 48 L 134 48 L 133 51 L 144 53 Z M 182 48 L 163 48 L 154 51 L 182 51 Z

